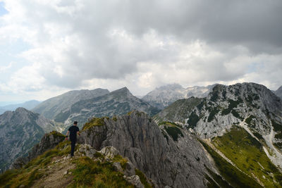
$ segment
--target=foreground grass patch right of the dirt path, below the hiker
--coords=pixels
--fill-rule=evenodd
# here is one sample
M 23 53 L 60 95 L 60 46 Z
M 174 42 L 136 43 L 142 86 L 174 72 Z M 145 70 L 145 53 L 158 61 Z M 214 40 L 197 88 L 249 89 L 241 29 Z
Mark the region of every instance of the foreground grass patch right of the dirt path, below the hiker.
M 88 157 L 81 157 L 73 161 L 76 168 L 72 170 L 73 183 L 68 187 L 134 187 L 124 180 L 123 174 L 116 172 L 112 163 L 108 161 L 93 161 Z

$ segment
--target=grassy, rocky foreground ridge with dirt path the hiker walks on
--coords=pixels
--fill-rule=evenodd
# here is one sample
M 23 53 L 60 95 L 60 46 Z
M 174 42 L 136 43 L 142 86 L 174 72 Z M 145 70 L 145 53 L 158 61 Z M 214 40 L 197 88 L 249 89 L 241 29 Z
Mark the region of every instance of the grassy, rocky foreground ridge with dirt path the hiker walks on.
M 152 182 L 113 146 L 97 151 L 89 144 L 78 144 L 71 158 L 70 142 L 60 140 L 59 132 L 45 134 L 25 163 L 14 163 L 18 170 L 0 175 L 0 186 L 152 187 Z

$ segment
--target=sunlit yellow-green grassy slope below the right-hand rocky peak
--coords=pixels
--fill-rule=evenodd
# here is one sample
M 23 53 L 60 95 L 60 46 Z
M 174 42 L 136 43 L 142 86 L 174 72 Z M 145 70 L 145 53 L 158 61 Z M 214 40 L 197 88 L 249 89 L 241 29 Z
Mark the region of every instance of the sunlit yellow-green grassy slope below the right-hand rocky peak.
M 265 187 L 282 186 L 279 180 L 281 173 L 264 153 L 262 144 L 243 128 L 232 127 L 230 132 L 213 139 L 213 143 L 240 170 L 250 177 L 255 175 Z M 271 173 L 274 174 L 274 177 L 271 176 Z M 278 183 L 275 183 L 274 180 Z

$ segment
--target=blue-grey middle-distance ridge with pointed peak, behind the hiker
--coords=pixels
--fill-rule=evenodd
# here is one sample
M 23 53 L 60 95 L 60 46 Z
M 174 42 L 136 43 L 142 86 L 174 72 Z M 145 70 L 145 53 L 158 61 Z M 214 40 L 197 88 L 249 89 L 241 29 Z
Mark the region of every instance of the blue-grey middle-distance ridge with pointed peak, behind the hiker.
M 103 96 L 78 101 L 71 106 L 69 111 L 65 112 L 66 118 L 63 121 L 69 125 L 74 120 L 78 120 L 78 126 L 82 127 L 89 118 L 123 115 L 135 109 L 149 115 L 155 115 L 159 112 L 157 108 L 133 96 L 126 87 L 123 87 Z

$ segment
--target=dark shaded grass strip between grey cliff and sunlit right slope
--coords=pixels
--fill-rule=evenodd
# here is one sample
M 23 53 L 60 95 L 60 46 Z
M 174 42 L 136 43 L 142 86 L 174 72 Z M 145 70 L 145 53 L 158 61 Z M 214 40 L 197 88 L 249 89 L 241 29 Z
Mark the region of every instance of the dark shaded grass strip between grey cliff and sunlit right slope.
M 255 180 L 240 172 L 233 165 L 228 163 L 224 158 L 222 158 L 216 151 L 214 151 L 209 145 L 202 142 L 204 148 L 209 152 L 209 154 L 214 158 L 216 167 L 219 169 L 221 176 L 232 185 L 232 187 L 262 187 Z M 219 183 L 219 182 L 218 182 Z

